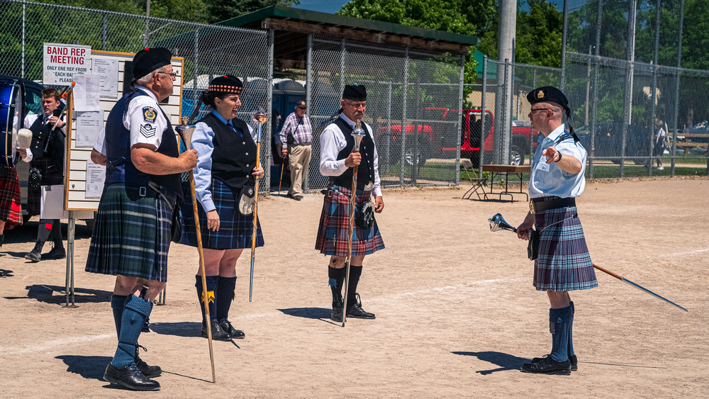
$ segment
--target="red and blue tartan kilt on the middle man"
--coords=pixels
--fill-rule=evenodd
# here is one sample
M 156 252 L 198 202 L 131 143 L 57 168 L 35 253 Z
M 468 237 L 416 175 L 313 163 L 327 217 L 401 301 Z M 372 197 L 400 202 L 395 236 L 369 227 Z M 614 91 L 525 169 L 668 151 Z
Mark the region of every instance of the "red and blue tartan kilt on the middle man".
M 337 189 L 340 193 L 335 193 L 333 189 Z M 321 254 L 347 257 L 347 239 L 350 230 L 350 201 L 348 198 L 350 198 L 350 193 L 350 189 L 345 187 L 331 186 L 328 193 L 325 194 L 315 244 L 315 249 L 318 249 Z M 359 209 L 362 203 L 369 201 L 371 196 L 372 191 L 357 190 L 354 198 L 357 208 Z M 384 249 L 384 241 L 381 240 L 376 218 L 368 229 L 359 227 L 355 222 L 352 232 L 352 256 L 361 257 L 373 254 L 379 249 Z

